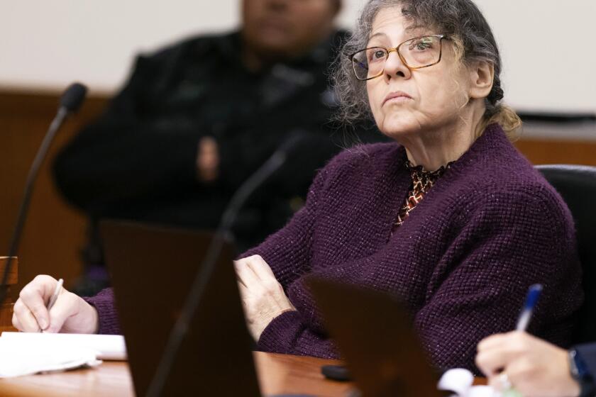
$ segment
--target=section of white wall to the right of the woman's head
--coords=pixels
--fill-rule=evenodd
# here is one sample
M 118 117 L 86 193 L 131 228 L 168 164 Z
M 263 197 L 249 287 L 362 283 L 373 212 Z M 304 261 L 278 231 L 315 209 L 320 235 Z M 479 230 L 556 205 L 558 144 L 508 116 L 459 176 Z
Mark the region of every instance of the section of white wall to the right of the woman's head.
M 516 108 L 596 113 L 596 0 L 476 0 Z

